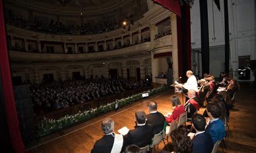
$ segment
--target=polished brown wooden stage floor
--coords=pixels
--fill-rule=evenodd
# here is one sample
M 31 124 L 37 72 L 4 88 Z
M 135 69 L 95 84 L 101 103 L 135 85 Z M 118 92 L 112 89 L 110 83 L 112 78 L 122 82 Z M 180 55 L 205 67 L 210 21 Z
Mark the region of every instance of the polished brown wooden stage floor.
M 142 109 L 148 114 L 146 104 L 148 100 L 158 103 L 158 111 L 162 114 L 172 111 L 169 97 L 174 94 L 169 89 L 166 92 L 145 98 L 129 104 L 117 112 L 109 112 L 101 117 L 70 127 L 58 133 L 41 138 L 38 144 L 27 149 L 26 152 L 90 152 L 96 140 L 102 137 L 101 121 L 112 118 L 115 121 L 115 132 L 123 126 L 133 129 L 135 125 L 134 113 Z M 199 113 L 202 114 L 204 108 Z M 227 150 L 224 152 L 256 152 L 256 92 L 249 90 L 244 84 L 237 94 L 235 108 L 230 114 L 229 139 L 225 140 Z M 170 143 L 170 141 L 169 141 Z M 171 150 L 171 144 L 166 145 Z M 161 152 L 164 149 L 163 142 L 152 152 Z M 219 149 L 221 152 L 222 150 Z

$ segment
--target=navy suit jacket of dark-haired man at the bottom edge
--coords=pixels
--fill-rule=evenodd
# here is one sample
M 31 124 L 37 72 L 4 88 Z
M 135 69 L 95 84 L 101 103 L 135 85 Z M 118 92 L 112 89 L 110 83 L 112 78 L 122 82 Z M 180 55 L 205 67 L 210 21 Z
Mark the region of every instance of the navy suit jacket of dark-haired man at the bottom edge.
M 193 140 L 193 152 L 195 153 L 210 153 L 213 149 L 213 141 L 210 135 L 207 133 L 201 133 L 194 136 Z

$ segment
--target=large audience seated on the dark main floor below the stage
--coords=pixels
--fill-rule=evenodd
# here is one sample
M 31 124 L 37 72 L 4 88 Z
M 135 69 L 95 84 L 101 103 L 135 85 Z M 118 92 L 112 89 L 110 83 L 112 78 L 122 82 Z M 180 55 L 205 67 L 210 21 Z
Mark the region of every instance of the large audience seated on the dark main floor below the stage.
M 30 97 L 37 115 L 52 110 L 85 103 L 99 97 L 118 94 L 126 90 L 150 86 L 149 81 L 134 81 L 122 78 L 98 78 L 90 80 L 54 81 L 32 84 Z

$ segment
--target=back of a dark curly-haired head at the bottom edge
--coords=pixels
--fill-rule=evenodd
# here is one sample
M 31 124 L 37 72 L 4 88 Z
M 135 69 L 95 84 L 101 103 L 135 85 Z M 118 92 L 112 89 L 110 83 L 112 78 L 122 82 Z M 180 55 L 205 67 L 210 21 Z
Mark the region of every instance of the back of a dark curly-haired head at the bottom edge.
M 177 128 L 171 132 L 172 146 L 174 152 L 188 153 L 192 152 L 192 141 L 188 137 L 188 133 L 183 128 Z

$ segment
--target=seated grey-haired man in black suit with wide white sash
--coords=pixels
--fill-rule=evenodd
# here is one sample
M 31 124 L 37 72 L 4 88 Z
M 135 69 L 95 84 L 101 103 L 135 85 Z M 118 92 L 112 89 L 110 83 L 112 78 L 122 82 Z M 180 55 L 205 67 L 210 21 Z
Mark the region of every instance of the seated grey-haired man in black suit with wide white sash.
M 104 136 L 94 143 L 91 152 L 123 152 L 126 148 L 126 141 L 121 134 L 115 134 L 114 121 L 107 118 L 102 121 L 101 129 Z

